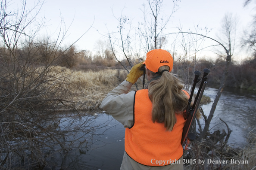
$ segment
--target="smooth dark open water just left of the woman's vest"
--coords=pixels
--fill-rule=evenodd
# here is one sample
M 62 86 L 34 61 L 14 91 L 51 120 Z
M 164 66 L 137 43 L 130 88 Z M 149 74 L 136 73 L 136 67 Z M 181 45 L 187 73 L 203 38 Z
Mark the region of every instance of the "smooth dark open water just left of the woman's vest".
M 98 113 L 94 125 L 98 125 L 97 131 L 85 136 L 91 146 L 56 153 L 44 170 L 118 170 L 125 151 L 125 128 L 105 113 Z

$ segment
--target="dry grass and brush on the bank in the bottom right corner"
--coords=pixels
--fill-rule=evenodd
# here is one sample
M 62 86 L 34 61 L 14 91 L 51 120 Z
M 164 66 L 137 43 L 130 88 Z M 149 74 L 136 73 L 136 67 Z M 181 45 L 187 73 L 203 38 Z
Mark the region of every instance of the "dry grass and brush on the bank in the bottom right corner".
M 204 164 L 188 164 L 186 170 L 256 170 L 256 128 L 248 134 L 248 145 L 232 147 L 226 143 L 213 144 L 211 140 L 194 141 L 191 158 L 205 161 Z M 212 163 L 209 160 L 215 161 Z M 233 160 L 233 162 L 231 162 Z M 216 163 L 216 161 L 218 161 Z M 219 163 L 222 161 L 222 164 Z M 227 161 L 227 164 L 223 164 Z M 236 163 L 234 161 L 237 161 Z M 240 163 L 238 163 L 240 161 Z

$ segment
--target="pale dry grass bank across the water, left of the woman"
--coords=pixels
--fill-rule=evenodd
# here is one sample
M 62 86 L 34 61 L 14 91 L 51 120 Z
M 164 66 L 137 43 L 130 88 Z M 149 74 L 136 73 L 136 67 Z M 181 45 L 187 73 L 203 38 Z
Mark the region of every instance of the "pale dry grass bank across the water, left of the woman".
M 63 102 L 69 106 L 69 109 L 79 110 L 98 109 L 106 94 L 124 81 L 127 75 L 125 70 L 120 69 L 105 69 L 95 72 L 71 70 L 61 66 L 28 67 L 28 74 L 24 79 L 20 73 L 16 74 L 16 77 L 19 77 L 18 85 L 21 86 L 20 88 L 27 87 L 42 73 L 44 73 L 44 78 L 47 77 L 47 82 L 41 83 L 39 89 L 42 91 L 47 89 L 46 91 L 49 92 L 45 93 L 43 97 L 47 98 L 51 91 L 55 91 L 56 100 L 61 97 L 62 101 L 70 101 Z M 137 84 L 141 89 L 142 82 L 138 80 Z M 30 86 L 33 88 L 33 85 Z M 136 87 L 133 85 L 131 90 L 136 90 Z M 62 109 L 66 108 L 59 107 L 59 110 Z

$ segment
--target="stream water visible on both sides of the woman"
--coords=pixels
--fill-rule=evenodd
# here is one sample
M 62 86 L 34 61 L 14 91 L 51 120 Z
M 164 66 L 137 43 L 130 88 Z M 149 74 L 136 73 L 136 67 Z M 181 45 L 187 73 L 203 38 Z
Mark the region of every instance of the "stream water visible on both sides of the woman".
M 211 98 L 209 104 L 203 105 L 206 116 L 209 115 L 213 100 L 218 89 L 206 88 L 204 94 Z M 256 122 L 256 93 L 236 88 L 225 88 L 216 107 L 210 125 L 210 131 L 224 129 L 226 125 L 232 130 L 228 143 L 233 147 L 243 147 L 247 144 L 247 134 L 250 125 Z M 204 121 L 201 119 L 203 127 Z M 97 130 L 93 137 L 94 144 L 86 152 L 74 150 L 65 158 L 53 158 L 55 165 L 51 169 L 62 170 L 119 170 L 125 152 L 125 128 L 121 123 L 105 112 L 97 113 L 96 124 L 103 128 Z M 97 135 L 100 134 L 100 135 Z M 89 136 L 88 136 L 89 137 Z

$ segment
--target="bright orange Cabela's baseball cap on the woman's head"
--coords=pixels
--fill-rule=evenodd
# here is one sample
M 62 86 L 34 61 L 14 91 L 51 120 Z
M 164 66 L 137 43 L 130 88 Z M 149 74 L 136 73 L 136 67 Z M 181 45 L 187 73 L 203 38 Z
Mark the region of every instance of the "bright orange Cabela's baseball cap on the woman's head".
M 166 50 L 154 49 L 147 53 L 146 61 L 143 64 L 146 64 L 148 70 L 153 71 L 154 73 L 158 72 L 159 67 L 169 66 L 172 71 L 173 58 L 172 55 Z

